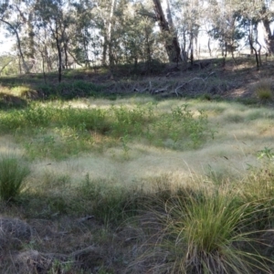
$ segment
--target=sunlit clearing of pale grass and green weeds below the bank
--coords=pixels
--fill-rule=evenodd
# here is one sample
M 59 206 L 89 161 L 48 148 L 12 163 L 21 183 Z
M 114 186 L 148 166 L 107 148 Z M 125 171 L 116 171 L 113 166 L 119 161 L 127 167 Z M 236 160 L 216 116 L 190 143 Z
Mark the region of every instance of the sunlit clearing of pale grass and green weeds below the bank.
M 196 113 L 204 110 L 208 117 L 206 130 L 214 132 L 214 139 L 209 133 L 196 148 L 184 137 L 184 126 L 169 120 L 172 110 L 185 103 L 195 119 Z M 240 121 L 227 120 L 228 113 L 238 115 Z M 216 174 L 240 176 L 246 173 L 248 164 L 256 164 L 257 151 L 271 146 L 274 128 L 269 118 L 274 111 L 270 109 L 195 100 L 53 101 L 44 103 L 43 108 L 33 105 L 0 115 L 2 138 L 12 147 L 25 150 L 34 163 L 46 158 L 45 162 L 53 163 L 49 168 L 57 166 L 66 171 L 66 163 L 79 162 L 84 174 L 115 178 L 121 184 L 138 181 L 143 174 L 165 171 L 186 176 L 189 169 L 198 174 L 210 174 L 212 169 Z M 113 120 L 115 116 L 119 122 Z M 2 143 L 4 150 L 5 145 Z M 100 164 L 89 167 L 89 159 L 97 159 Z M 105 173 L 102 166 L 109 172 Z M 68 173 L 73 174 L 70 170 Z M 74 177 L 79 176 L 75 172 Z

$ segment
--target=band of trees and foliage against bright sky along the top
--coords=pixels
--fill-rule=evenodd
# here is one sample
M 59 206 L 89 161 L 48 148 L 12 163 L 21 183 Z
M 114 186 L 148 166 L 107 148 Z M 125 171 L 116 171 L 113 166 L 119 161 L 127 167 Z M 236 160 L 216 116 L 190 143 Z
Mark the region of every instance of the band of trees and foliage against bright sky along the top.
M 157 62 L 192 63 L 241 45 L 274 54 L 272 0 L 2 0 L 0 25 L 14 37 L 1 72 L 21 73 Z M 2 29 L 3 29 L 2 27 Z M 263 39 L 258 38 L 261 33 Z M 4 37 L 2 34 L 0 37 Z

